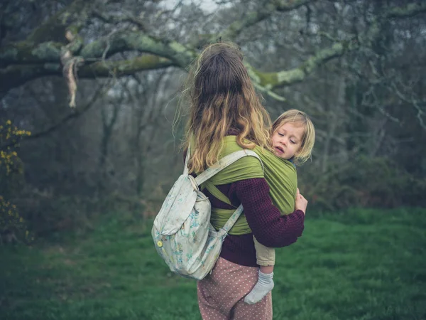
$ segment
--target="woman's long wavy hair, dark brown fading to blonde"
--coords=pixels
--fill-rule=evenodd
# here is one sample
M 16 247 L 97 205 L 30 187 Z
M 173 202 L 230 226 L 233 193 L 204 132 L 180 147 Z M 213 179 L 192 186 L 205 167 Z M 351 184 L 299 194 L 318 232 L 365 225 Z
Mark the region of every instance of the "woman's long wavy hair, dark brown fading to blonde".
M 243 148 L 271 148 L 271 119 L 234 43 L 204 48 L 192 65 L 186 87 L 190 114 L 183 146 L 191 142 L 190 172 L 204 171 L 218 161 L 230 129 L 238 130 L 236 142 Z

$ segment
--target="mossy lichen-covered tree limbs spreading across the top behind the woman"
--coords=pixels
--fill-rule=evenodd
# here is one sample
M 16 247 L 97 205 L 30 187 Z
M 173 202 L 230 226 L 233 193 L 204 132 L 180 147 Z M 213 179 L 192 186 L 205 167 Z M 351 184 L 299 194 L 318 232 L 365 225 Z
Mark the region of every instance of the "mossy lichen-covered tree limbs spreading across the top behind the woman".
M 147 1 L 148 2 L 148 1 Z M 156 1 L 155 1 L 156 2 Z M 163 14 L 160 6 L 148 3 L 141 11 L 143 14 L 165 16 L 165 23 L 174 18 L 175 12 Z M 13 87 L 47 75 L 61 75 L 62 70 L 71 74 L 77 68 L 79 78 L 99 78 L 131 75 L 141 70 L 168 68 L 170 66 L 185 69 L 197 55 L 200 43 L 214 41 L 217 38 L 237 41 L 246 28 L 265 21 L 275 12 L 295 11 L 302 7 L 310 8 L 315 0 L 265 1 L 255 10 L 244 14 L 217 34 L 198 36 L 196 41 L 186 43 L 173 38 L 159 38 L 145 20 L 129 14 L 125 9 L 112 14 L 106 9 L 114 9 L 116 1 L 72 1 L 64 9 L 50 16 L 41 26 L 35 28 L 23 41 L 6 43 L 1 48 L 0 80 L 5 93 Z M 357 3 L 363 1 L 350 1 Z M 231 1 L 229 1 L 230 4 Z M 339 4 L 340 1 L 336 1 Z M 343 4 L 344 5 L 344 4 Z M 175 9 L 177 11 L 178 9 Z M 255 68 L 251 76 L 259 89 L 271 93 L 276 87 L 292 85 L 304 80 L 319 65 L 340 57 L 351 50 L 368 50 L 380 36 L 381 28 L 389 19 L 408 18 L 426 11 L 424 1 L 412 1 L 402 6 L 386 6 L 370 21 L 370 25 L 340 41 L 334 41 L 329 48 L 320 48 L 297 68 L 292 70 L 275 70 L 264 73 Z M 149 20 L 149 18 L 148 18 Z M 92 38 L 92 29 L 105 23 L 114 24 L 114 30 L 107 35 Z M 50 34 L 50 31 L 54 31 Z M 324 36 L 327 36 L 325 34 Z M 60 39 L 60 40 L 56 40 Z M 108 60 L 117 53 L 137 51 L 133 57 Z M 81 64 L 81 65 L 80 65 Z M 78 67 L 80 65 L 80 67 Z M 6 81 L 7 80 L 7 81 Z

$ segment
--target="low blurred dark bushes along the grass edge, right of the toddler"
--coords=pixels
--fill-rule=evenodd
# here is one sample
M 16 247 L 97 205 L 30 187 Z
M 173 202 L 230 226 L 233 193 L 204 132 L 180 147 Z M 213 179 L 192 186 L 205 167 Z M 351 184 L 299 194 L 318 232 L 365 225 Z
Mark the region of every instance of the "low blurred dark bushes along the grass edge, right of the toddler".
M 361 155 L 344 166 L 330 162 L 325 174 L 312 169 L 307 166 L 299 171 L 300 188 L 314 211 L 426 206 L 426 178 L 409 174 L 391 159 Z

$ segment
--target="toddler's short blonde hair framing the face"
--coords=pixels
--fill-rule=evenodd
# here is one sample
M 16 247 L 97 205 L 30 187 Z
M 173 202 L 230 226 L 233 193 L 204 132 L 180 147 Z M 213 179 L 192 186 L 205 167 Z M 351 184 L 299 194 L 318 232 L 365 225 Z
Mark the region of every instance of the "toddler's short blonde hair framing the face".
M 272 124 L 271 134 L 288 122 L 302 124 L 304 127 L 302 144 L 295 154 L 295 163 L 302 164 L 310 159 L 315 144 L 315 127 L 310 117 L 300 110 L 290 109 L 280 115 Z

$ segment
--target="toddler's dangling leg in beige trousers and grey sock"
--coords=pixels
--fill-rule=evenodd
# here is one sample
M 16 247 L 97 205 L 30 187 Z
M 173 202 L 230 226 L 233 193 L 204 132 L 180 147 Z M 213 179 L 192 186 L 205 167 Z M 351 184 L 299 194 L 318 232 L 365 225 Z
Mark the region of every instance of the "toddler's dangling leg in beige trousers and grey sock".
M 265 247 L 256 241 L 257 263 L 261 266 L 259 270 L 258 282 L 251 289 L 251 292 L 246 295 L 244 302 L 247 304 L 256 304 L 273 289 L 273 265 L 275 265 L 275 250 L 271 247 Z

